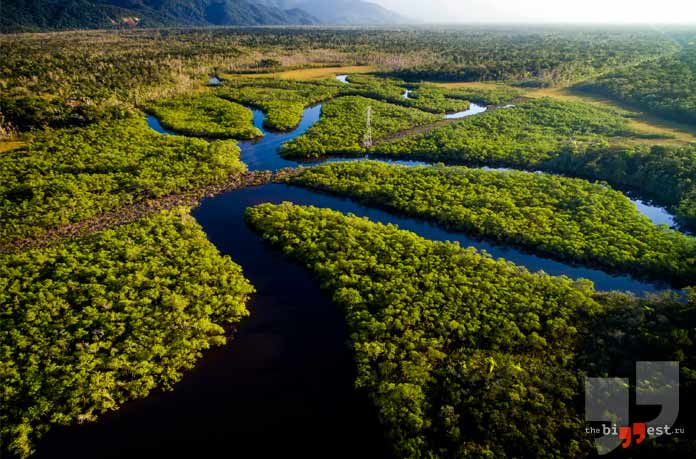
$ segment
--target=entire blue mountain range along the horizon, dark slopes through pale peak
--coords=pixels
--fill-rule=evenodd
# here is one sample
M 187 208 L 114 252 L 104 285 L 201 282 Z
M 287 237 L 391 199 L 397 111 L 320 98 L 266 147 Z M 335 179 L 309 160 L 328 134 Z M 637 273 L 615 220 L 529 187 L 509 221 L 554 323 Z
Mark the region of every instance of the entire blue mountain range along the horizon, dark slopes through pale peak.
M 361 0 L 0 0 L 0 32 L 396 22 L 404 18 Z

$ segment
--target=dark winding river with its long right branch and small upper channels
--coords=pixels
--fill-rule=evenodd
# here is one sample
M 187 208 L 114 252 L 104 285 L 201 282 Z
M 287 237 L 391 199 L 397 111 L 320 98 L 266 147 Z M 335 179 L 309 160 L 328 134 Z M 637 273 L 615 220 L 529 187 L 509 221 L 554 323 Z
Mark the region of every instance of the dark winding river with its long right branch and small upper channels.
M 265 135 L 240 143 L 242 161 L 250 170 L 296 167 L 298 163 L 278 156 L 278 148 L 306 132 L 320 114 L 320 105 L 308 108 L 295 131 L 273 133 L 263 129 L 263 113 L 254 111 L 254 124 Z M 148 123 L 167 133 L 153 117 Z M 394 223 L 428 239 L 486 250 L 531 271 L 588 278 L 599 289 L 643 293 L 664 287 L 477 241 L 302 188 L 272 184 L 232 191 L 205 199 L 193 215 L 255 286 L 251 317 L 239 324 L 229 345 L 206 352 L 174 391 L 130 402 L 96 423 L 53 429 L 36 457 L 388 457 L 376 412 L 352 385 L 355 370 L 343 314 L 309 270 L 267 247 L 244 223 L 247 207 L 283 201 Z

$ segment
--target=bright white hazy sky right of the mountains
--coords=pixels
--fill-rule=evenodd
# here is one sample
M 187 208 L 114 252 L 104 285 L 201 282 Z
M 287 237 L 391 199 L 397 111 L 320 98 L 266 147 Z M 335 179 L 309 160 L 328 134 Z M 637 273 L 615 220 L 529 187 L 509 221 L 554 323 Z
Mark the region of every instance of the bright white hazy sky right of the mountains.
M 696 0 L 370 0 L 426 22 L 696 23 Z

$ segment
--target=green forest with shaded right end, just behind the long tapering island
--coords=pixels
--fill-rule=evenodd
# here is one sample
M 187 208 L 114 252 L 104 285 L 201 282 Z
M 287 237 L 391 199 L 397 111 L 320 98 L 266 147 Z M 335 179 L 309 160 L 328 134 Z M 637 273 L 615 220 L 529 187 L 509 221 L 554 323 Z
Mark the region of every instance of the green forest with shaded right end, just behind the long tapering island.
M 620 113 L 539 99 L 378 144 L 371 153 L 606 180 L 669 206 L 681 224 L 696 228 L 696 148 L 624 142 L 635 137 L 641 135 Z

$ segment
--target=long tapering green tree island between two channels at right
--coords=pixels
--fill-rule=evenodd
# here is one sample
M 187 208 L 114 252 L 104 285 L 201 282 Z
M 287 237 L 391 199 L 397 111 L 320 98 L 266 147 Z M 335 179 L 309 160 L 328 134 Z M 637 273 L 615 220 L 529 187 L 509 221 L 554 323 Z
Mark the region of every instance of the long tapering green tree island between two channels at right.
M 290 179 L 561 260 L 688 285 L 696 238 L 659 228 L 623 194 L 585 180 L 376 162 L 313 167 Z

